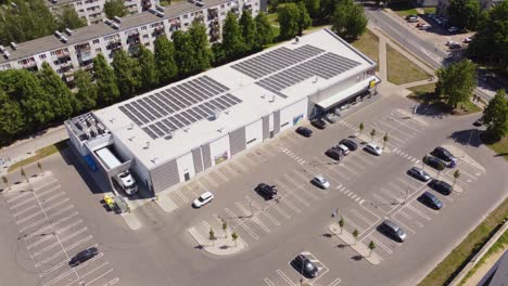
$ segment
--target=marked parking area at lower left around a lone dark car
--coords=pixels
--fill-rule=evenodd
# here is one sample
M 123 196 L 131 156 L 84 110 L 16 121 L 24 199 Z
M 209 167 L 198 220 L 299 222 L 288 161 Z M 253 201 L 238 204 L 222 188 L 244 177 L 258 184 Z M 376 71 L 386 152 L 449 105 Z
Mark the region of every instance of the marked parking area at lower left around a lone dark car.
M 119 281 L 100 247 L 92 259 L 75 268 L 68 265 L 77 252 L 98 247 L 98 243 L 53 176 L 47 173 L 16 185 L 4 198 L 20 230 L 18 240 L 34 260 L 39 285 L 101 286 Z

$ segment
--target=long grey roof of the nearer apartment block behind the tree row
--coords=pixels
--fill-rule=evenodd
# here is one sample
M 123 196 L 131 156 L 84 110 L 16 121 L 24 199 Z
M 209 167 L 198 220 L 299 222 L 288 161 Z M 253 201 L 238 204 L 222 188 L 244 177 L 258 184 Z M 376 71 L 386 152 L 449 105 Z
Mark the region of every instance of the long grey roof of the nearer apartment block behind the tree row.
M 160 17 L 148 11 L 125 16 L 122 18 L 122 23 L 119 23 L 118 29 L 115 29 L 105 23 L 99 23 L 79 29 L 75 29 L 73 30 L 73 34 L 71 36 L 61 31 L 68 39 L 66 43 L 62 42 L 54 35 L 46 36 L 26 42 L 21 42 L 17 43 L 16 50 L 13 50 L 11 47 L 5 47 L 5 50 L 10 53 L 10 57 L 0 57 L 0 64 L 26 58 L 46 51 L 54 51 L 68 46 L 82 43 L 100 37 L 118 34 L 142 25 L 157 23 L 163 20 L 173 18 L 195 11 L 201 11 L 206 8 L 214 6 L 220 3 L 226 3 L 229 1 L 230 0 L 204 0 L 203 6 L 198 6 L 190 2 L 177 2 L 165 8 L 164 17 Z

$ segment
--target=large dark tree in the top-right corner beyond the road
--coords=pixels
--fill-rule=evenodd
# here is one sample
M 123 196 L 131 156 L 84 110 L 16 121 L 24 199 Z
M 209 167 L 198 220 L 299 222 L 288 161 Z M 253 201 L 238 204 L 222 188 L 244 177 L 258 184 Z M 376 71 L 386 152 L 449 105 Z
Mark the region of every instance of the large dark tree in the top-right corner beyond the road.
M 468 47 L 470 57 L 488 62 L 508 72 L 508 1 L 485 11 L 480 17 L 478 32 Z

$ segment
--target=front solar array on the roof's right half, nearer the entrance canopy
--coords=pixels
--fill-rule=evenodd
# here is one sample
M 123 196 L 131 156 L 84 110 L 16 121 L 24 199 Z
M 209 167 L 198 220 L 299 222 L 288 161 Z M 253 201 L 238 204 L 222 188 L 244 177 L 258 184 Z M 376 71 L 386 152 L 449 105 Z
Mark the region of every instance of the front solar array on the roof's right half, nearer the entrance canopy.
M 330 79 L 355 66 L 358 66 L 359 64 L 360 63 L 358 62 L 334 53 L 326 53 L 283 72 L 277 73 L 270 77 L 264 78 L 257 81 L 256 84 L 285 99 L 287 96 L 280 92 L 285 88 L 315 76 Z

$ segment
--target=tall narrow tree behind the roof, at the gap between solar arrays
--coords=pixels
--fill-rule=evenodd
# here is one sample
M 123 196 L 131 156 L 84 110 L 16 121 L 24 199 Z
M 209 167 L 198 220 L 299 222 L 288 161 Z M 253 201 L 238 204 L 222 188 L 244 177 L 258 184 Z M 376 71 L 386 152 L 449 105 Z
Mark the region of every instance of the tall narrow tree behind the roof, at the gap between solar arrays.
M 232 61 L 240 57 L 245 48 L 242 36 L 242 29 L 238 24 L 238 18 L 231 11 L 228 12 L 223 26 L 223 51 L 226 61 Z

